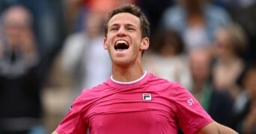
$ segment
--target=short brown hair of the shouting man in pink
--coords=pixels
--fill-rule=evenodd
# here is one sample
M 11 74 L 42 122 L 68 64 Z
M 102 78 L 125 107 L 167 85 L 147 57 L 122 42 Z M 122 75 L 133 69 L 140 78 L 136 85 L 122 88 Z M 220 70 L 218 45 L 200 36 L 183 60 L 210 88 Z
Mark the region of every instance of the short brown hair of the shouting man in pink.
M 112 12 L 109 13 L 104 28 L 105 36 L 107 36 L 109 30 L 109 20 L 118 13 L 131 13 L 132 15 L 137 16 L 141 23 L 141 36 L 143 38 L 150 36 L 150 23 L 148 22 L 147 17 L 144 15 L 144 13 L 141 12 L 140 8 L 135 6 L 134 4 L 124 4 L 121 7 L 115 8 L 114 10 L 112 10 Z

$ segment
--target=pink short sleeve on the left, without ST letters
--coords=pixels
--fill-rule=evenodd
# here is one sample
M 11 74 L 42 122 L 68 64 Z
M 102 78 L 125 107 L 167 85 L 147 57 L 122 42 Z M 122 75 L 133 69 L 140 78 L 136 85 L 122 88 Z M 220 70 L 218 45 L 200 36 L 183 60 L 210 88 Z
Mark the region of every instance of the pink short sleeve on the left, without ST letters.
M 82 102 L 76 99 L 56 131 L 59 134 L 86 134 L 88 124 L 84 119 L 81 109 Z

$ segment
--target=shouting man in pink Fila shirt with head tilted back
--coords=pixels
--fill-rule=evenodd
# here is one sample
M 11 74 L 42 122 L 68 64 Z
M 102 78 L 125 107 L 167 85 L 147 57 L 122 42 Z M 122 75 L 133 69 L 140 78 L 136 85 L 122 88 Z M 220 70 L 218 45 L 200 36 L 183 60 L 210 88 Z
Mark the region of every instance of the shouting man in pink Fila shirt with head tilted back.
M 84 90 L 54 133 L 236 133 L 216 123 L 178 83 L 147 73 L 141 55 L 149 47 L 149 23 L 127 4 L 109 13 L 104 48 L 112 77 Z

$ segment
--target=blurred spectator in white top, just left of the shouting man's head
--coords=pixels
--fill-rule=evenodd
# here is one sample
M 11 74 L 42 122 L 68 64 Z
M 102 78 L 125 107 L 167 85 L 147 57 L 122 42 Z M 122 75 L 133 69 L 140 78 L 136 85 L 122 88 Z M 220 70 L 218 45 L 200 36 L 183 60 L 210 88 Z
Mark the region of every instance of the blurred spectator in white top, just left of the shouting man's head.
M 61 63 L 64 71 L 73 77 L 72 89 L 91 88 L 111 74 L 111 61 L 102 45 L 104 19 L 98 13 L 88 13 L 85 30 L 68 36 L 64 42 Z

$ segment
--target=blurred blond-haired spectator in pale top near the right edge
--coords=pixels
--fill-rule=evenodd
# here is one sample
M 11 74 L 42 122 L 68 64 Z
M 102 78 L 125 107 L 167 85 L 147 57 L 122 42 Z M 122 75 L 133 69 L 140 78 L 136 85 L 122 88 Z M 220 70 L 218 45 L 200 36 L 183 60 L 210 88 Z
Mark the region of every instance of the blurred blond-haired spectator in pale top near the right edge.
M 246 50 L 246 36 L 240 25 L 225 25 L 216 32 L 216 63 L 213 65 L 213 83 L 216 89 L 228 91 L 236 98 L 235 83 L 245 63 L 240 55 Z

